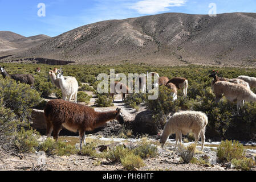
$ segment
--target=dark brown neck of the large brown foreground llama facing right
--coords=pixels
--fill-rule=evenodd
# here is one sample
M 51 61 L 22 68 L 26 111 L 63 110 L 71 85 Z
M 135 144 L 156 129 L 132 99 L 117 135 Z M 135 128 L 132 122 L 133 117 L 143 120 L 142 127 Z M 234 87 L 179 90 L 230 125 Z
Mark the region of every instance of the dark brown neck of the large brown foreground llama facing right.
M 116 118 L 116 111 L 96 112 L 94 127 L 101 126 L 104 123 L 111 121 L 115 118 Z

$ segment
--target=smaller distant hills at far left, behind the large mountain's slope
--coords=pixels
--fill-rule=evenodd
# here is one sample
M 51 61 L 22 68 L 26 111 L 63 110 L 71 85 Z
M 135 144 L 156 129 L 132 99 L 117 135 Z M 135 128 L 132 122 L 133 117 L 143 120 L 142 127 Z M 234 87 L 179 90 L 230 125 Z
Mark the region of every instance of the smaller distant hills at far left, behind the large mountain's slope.
M 39 46 L 47 35 L 36 35 L 26 38 L 10 31 L 0 31 L 0 56 L 13 55 L 32 47 Z

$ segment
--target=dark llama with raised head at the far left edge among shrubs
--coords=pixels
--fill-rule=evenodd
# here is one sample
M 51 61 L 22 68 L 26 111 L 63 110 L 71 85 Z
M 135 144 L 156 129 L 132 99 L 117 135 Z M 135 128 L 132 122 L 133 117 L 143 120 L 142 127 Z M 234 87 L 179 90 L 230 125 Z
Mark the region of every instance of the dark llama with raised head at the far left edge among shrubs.
M 3 78 L 9 77 L 9 78 L 12 78 L 15 81 L 19 81 L 21 83 L 29 84 L 30 86 L 34 85 L 35 78 L 31 74 L 13 74 L 13 75 L 10 75 L 5 70 L 5 66 L 3 66 L 3 67 L 0 66 L 0 70 L 1 70 L 1 74 L 2 74 Z

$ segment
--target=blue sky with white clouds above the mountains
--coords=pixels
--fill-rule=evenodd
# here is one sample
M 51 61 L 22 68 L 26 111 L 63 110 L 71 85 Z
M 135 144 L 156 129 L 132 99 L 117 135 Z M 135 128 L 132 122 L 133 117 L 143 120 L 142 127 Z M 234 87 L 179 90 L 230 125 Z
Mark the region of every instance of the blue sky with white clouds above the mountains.
M 38 16 L 38 4 L 46 16 Z M 74 28 L 108 19 L 125 19 L 160 13 L 256 13 L 256 0 L 0 0 L 0 31 L 23 36 L 57 36 Z

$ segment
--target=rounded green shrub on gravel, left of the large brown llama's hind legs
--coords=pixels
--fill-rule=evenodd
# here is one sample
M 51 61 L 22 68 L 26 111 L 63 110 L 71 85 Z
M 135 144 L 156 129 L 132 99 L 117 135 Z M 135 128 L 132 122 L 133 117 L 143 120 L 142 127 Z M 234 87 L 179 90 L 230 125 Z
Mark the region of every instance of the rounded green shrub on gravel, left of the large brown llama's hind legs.
M 14 135 L 14 147 L 20 153 L 34 152 L 38 147 L 39 133 L 35 130 L 25 130 L 23 127 L 21 131 Z

